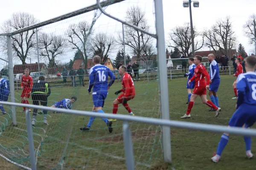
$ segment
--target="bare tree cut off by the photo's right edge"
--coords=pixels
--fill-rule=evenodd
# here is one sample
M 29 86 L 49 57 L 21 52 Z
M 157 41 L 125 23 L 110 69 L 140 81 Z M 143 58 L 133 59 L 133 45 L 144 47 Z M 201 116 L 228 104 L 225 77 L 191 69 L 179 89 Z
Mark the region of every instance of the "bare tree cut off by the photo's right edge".
M 247 22 L 244 24 L 244 33 L 246 37 L 249 38 L 250 44 L 254 43 L 254 22 L 256 23 L 256 14 L 251 15 Z

